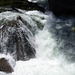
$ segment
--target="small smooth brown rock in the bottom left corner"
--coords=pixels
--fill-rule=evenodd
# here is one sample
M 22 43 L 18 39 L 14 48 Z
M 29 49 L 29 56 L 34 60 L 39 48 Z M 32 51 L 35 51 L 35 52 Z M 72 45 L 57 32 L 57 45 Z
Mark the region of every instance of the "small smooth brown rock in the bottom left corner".
M 14 70 L 9 64 L 8 60 L 6 60 L 5 58 L 0 58 L 0 71 L 11 73 Z

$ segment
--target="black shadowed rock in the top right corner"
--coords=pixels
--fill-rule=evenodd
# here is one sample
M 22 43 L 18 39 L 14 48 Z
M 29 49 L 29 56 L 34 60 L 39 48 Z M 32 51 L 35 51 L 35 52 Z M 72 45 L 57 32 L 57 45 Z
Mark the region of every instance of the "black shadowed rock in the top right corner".
M 75 15 L 75 0 L 48 0 L 50 10 L 56 15 Z

